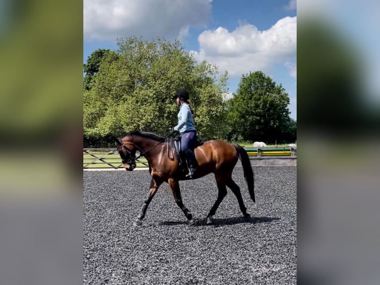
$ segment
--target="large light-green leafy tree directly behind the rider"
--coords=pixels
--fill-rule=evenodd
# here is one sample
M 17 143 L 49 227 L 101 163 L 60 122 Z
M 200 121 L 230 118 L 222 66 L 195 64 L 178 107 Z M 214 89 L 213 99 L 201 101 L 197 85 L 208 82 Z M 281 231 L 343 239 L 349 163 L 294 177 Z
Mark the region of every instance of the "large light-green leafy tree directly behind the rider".
M 132 130 L 167 135 L 177 124 L 172 99 L 179 87 L 190 93 L 201 137 L 218 138 L 227 73 L 216 83 L 217 67 L 196 64 L 179 41 L 136 37 L 118 40 L 117 59 L 108 53 L 83 92 L 83 127 L 88 136 L 122 135 Z

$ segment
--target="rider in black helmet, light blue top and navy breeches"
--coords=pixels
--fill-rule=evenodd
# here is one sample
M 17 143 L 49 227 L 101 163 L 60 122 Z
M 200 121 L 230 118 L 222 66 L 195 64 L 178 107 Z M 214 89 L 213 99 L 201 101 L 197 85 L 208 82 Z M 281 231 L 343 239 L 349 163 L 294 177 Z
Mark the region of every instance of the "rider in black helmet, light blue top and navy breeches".
M 194 119 L 192 117 L 192 108 L 189 103 L 189 92 L 180 88 L 176 95 L 173 96 L 173 99 L 176 99 L 177 105 L 180 106 L 180 112 L 178 113 L 178 125 L 174 127 L 171 134 L 175 131 L 180 132 L 181 150 L 185 153 L 189 167 L 189 173 L 186 177 L 193 178 L 198 165 L 194 155 L 197 134 L 194 127 Z

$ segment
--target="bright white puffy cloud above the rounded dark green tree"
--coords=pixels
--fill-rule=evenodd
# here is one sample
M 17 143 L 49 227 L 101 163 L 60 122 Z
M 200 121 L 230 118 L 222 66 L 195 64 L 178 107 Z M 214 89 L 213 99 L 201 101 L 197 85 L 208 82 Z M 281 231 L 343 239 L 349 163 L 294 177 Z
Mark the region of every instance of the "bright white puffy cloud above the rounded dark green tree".
M 249 71 L 269 71 L 273 64 L 294 61 L 297 56 L 297 17 L 285 17 L 270 29 L 259 31 L 242 24 L 229 32 L 223 27 L 202 32 L 199 51 L 191 51 L 198 61 L 207 60 L 240 77 Z

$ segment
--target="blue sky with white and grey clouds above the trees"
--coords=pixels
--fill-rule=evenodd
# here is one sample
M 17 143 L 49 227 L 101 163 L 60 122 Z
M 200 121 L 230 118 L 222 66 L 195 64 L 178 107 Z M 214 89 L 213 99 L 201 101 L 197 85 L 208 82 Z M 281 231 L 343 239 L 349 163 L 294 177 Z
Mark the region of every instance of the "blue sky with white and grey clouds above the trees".
M 179 39 L 199 62 L 228 72 L 228 97 L 243 74 L 262 71 L 289 94 L 297 120 L 297 0 L 83 0 L 83 63 L 117 39 Z

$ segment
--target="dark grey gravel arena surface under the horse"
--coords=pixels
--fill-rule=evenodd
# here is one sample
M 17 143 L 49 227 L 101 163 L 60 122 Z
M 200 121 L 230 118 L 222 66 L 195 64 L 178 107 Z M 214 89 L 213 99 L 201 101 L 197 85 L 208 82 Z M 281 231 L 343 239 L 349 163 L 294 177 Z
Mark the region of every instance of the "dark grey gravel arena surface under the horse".
M 256 203 L 243 168 L 233 172 L 251 218 L 227 188 L 213 224 L 205 224 L 218 193 L 209 174 L 180 182 L 197 225 L 188 225 L 164 183 L 137 227 L 148 171 L 83 171 L 83 284 L 296 284 L 297 167 L 253 171 Z

